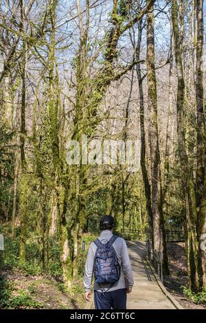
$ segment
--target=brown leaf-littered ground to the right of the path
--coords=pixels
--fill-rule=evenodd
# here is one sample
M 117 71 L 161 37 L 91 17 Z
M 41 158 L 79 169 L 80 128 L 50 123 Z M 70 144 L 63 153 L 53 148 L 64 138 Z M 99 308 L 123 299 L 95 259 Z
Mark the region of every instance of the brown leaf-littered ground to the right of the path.
M 187 285 L 187 263 L 185 243 L 168 243 L 171 276 L 164 276 L 163 285 L 184 309 L 206 309 L 206 305 L 195 304 L 184 295 L 182 286 Z

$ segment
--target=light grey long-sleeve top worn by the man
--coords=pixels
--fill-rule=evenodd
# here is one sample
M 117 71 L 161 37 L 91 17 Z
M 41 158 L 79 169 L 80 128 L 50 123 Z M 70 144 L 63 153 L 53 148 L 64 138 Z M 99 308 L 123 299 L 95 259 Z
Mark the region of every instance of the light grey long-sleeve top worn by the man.
M 99 236 L 99 240 L 102 243 L 107 243 L 107 241 L 113 236 L 113 233 L 110 230 L 103 230 Z M 117 254 L 117 258 L 119 260 L 119 265 L 121 267 L 120 278 L 115 284 L 111 287 L 110 285 L 104 285 L 105 291 L 115 291 L 117 289 L 124 289 L 126 285 L 128 287 L 132 287 L 134 285 L 133 281 L 133 273 L 130 265 L 130 259 L 128 256 L 128 250 L 126 247 L 126 242 L 123 238 L 117 238 L 113 243 L 113 247 Z M 91 243 L 89 247 L 89 251 L 87 254 L 87 261 L 85 265 L 85 274 L 84 274 L 84 288 L 85 291 L 90 291 L 91 282 L 93 276 L 93 262 L 95 258 L 95 252 L 97 250 L 97 246 L 95 243 Z M 111 288 L 109 288 L 111 287 Z M 96 291 L 102 291 L 100 286 L 95 282 L 94 289 Z

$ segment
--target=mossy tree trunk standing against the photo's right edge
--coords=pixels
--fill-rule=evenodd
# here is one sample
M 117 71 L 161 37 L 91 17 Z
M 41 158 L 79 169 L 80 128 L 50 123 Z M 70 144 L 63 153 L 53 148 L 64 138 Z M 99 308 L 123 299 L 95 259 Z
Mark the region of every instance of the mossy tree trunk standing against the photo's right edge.
M 206 286 L 206 131 L 203 91 L 203 2 L 203 0 L 196 1 L 196 208 L 198 212 L 197 234 L 199 289 Z

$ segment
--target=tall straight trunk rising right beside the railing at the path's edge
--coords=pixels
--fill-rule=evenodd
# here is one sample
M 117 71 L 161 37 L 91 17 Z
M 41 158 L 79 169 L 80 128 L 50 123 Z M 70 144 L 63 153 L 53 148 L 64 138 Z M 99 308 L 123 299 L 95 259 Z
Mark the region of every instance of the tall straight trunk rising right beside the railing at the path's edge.
M 163 269 L 168 274 L 168 254 L 165 243 L 163 201 L 161 191 L 159 133 L 157 121 L 157 80 L 155 75 L 154 6 L 147 14 L 147 71 L 148 110 L 150 113 L 149 141 L 151 160 L 153 243 L 157 252 L 163 252 Z

